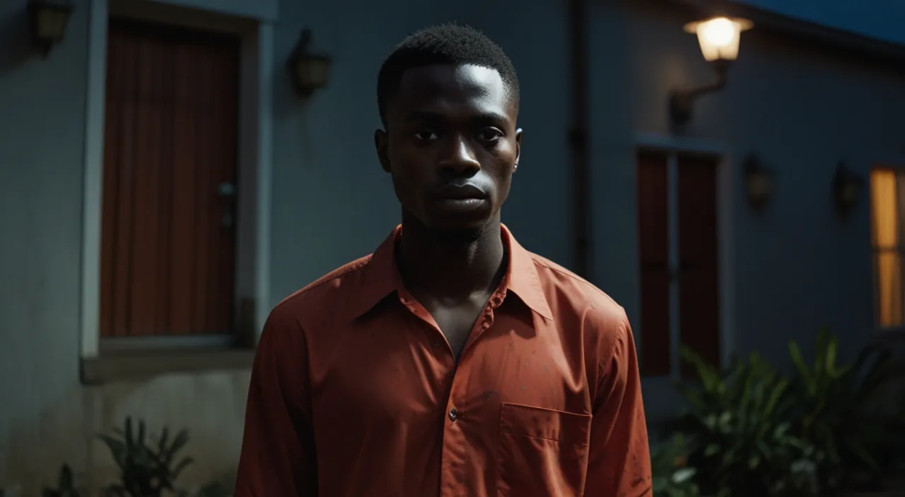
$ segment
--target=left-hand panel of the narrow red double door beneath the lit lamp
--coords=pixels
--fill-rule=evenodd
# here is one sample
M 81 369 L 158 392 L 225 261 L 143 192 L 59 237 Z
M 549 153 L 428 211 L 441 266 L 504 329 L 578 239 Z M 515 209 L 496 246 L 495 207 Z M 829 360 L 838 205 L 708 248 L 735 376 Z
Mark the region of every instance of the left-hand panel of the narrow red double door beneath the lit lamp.
M 670 239 L 667 156 L 638 155 L 638 246 L 641 262 L 641 353 L 644 376 L 664 376 L 670 352 Z

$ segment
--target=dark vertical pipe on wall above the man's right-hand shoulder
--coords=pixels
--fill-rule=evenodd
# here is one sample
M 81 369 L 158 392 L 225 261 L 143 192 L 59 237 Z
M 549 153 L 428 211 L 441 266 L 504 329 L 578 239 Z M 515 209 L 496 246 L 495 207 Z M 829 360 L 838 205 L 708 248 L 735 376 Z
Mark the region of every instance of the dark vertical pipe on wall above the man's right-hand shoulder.
M 590 278 L 590 154 L 588 151 L 588 63 L 586 0 L 569 0 L 569 52 L 572 80 L 572 122 L 568 142 L 572 156 L 573 227 L 575 230 L 575 272 Z

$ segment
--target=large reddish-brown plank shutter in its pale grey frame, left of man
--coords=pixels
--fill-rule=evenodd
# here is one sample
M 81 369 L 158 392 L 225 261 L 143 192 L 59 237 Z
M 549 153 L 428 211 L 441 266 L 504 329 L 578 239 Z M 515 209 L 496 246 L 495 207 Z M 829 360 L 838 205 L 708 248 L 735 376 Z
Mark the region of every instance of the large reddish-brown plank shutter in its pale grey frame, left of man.
M 272 306 L 274 27 L 245 14 L 91 2 L 84 383 L 251 364 Z

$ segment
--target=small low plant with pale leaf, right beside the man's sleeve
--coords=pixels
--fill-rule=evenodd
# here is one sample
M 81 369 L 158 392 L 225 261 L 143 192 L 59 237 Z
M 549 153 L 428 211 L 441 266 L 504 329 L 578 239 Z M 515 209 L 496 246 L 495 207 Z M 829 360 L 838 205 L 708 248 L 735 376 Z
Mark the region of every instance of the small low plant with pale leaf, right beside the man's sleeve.
M 694 483 L 697 470 L 688 465 L 688 445 L 681 433 L 670 440 L 651 447 L 653 494 L 658 497 L 700 497 Z

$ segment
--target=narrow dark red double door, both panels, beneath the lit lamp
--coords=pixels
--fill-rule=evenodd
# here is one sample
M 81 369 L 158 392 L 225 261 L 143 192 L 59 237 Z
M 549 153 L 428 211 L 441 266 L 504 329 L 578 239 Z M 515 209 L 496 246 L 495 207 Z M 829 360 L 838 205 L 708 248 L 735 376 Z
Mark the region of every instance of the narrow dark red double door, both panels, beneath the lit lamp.
M 674 155 L 670 164 L 661 152 L 637 160 L 642 374 L 670 374 L 674 335 L 719 366 L 717 160 Z

